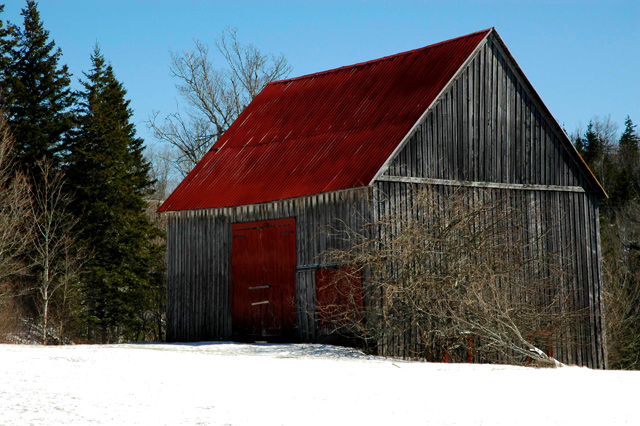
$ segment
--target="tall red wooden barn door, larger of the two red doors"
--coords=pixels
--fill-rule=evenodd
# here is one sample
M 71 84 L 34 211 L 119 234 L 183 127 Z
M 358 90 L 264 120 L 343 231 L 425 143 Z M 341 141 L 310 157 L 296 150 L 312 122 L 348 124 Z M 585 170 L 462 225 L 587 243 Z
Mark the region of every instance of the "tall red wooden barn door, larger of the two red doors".
M 231 228 L 234 336 L 291 336 L 296 320 L 295 219 L 234 223 Z

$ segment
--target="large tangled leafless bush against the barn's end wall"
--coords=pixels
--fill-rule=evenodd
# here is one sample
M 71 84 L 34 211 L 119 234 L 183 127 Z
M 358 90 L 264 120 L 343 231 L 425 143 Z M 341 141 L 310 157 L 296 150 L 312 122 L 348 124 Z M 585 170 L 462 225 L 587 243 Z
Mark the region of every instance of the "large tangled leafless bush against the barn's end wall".
M 334 297 L 341 306 L 319 303 L 320 323 L 378 347 L 401 340 L 413 358 L 555 365 L 547 348 L 560 333 L 569 338 L 582 312 L 548 231 L 496 194 L 444 199 L 422 189 L 410 198 L 366 232 L 335 235 L 349 248 L 325 253 L 323 263 L 342 267 L 317 291 L 348 294 Z M 354 293 L 345 283 L 360 277 Z

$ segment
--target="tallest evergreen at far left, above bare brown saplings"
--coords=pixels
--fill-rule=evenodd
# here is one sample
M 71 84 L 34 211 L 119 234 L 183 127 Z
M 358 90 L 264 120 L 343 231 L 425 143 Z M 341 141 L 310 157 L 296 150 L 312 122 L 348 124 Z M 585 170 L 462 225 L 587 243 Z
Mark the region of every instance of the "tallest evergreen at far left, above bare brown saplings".
M 72 123 L 74 96 L 70 74 L 59 65 L 62 52 L 49 40 L 37 3 L 22 9 L 23 26 L 0 27 L 2 103 L 16 139 L 20 167 L 37 174 L 35 164 L 58 159 L 60 146 Z

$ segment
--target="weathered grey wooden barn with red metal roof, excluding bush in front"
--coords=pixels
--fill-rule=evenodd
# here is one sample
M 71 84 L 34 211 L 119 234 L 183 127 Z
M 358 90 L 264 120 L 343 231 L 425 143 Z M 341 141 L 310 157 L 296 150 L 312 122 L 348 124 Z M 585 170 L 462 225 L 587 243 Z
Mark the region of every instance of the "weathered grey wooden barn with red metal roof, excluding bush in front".
M 416 185 L 552 212 L 587 312 L 563 361 L 606 366 L 600 184 L 495 29 L 268 84 L 162 204 L 167 339 L 317 341 L 319 259 Z M 381 352 L 402 355 L 402 345 Z

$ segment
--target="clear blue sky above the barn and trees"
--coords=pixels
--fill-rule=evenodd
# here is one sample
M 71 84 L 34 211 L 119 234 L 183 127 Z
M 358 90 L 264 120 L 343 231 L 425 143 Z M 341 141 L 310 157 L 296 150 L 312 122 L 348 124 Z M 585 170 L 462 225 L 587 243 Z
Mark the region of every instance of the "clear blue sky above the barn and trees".
M 0 0 L 2 3 L 3 0 Z M 22 0 L 3 19 L 21 23 Z M 77 87 L 98 42 L 128 90 L 138 133 L 179 102 L 169 51 L 213 45 L 227 26 L 291 77 L 495 27 L 557 120 L 571 132 L 594 115 L 640 123 L 640 1 L 41 0 L 45 27 Z

